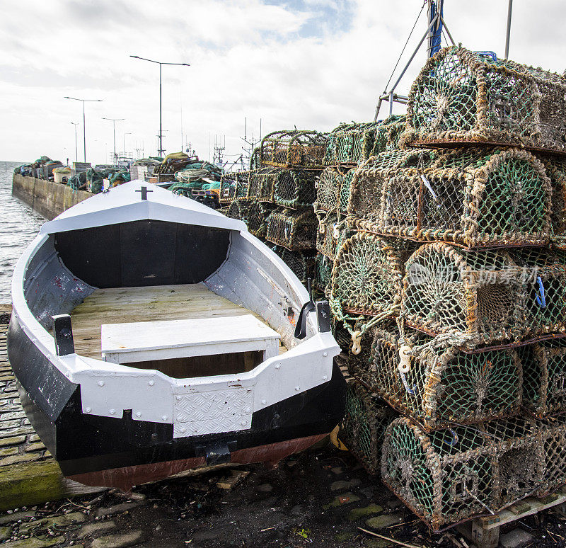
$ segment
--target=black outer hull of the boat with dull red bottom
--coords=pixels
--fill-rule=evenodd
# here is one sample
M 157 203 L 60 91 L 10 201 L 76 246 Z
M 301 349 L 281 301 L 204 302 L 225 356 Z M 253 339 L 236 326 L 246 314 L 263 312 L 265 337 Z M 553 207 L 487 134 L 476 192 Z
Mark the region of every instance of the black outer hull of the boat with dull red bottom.
M 276 464 L 329 433 L 345 405 L 334 365 L 328 382 L 253 413 L 248 430 L 173 438 L 172 424 L 132 420 L 131 411 L 122 418 L 83 413 L 80 385 L 37 349 L 15 315 L 8 355 L 32 426 L 63 474 L 88 485 L 128 490 L 206 464 Z

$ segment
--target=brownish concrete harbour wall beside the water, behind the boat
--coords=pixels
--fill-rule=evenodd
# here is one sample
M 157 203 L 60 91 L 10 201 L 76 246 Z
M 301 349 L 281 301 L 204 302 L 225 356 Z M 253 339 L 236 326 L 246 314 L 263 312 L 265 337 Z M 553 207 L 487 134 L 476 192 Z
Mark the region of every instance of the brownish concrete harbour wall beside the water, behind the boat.
M 12 194 L 47 219 L 57 217 L 59 213 L 92 196 L 86 190 L 72 190 L 60 183 L 16 174 L 13 176 Z

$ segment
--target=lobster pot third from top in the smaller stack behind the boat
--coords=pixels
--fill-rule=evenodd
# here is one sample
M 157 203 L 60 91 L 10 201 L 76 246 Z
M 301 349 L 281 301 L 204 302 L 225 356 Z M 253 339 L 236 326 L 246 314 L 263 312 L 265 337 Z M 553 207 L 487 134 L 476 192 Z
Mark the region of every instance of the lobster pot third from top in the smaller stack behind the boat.
M 318 222 L 312 209 L 279 208 L 267 217 L 267 239 L 290 251 L 311 251 L 316 248 Z

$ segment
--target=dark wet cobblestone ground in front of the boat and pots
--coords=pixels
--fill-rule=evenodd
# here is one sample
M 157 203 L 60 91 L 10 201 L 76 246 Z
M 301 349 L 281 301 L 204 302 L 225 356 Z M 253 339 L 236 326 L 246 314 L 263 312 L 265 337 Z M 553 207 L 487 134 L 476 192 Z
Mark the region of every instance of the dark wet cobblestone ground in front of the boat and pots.
M 130 496 L 105 491 L 0 514 L 6 548 L 399 545 L 359 527 L 412 547 L 470 545 L 454 531 L 429 535 L 378 479 L 332 446 L 272 470 L 222 469 L 137 486 Z M 504 529 L 502 546 L 564 546 L 564 529 L 566 518 L 549 511 Z

